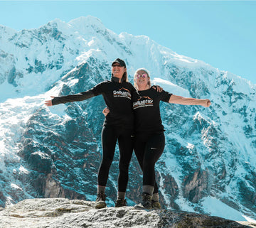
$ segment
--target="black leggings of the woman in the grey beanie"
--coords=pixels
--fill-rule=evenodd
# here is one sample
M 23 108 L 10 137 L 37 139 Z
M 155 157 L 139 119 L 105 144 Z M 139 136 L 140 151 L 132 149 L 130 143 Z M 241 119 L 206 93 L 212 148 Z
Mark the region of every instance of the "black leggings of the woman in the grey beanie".
M 143 185 L 154 186 L 154 193 L 159 192 L 156 184 L 154 165 L 164 151 L 164 132 L 136 134 L 134 152 L 143 171 Z

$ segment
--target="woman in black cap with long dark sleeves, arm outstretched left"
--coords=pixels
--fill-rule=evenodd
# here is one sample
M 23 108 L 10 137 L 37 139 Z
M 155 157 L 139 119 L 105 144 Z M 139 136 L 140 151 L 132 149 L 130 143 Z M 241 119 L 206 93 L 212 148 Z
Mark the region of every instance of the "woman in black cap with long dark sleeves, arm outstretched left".
M 132 99 L 139 97 L 127 79 L 127 68 L 124 60 L 117 58 L 112 63 L 111 80 L 101 82 L 92 89 L 79 94 L 63 97 L 52 97 L 45 102 L 46 106 L 52 106 L 67 102 L 79 102 L 90 97 L 102 94 L 110 109 L 102 127 L 102 161 L 98 171 L 96 208 L 106 207 L 105 188 L 109 175 L 110 165 L 114 157 L 114 149 L 118 141 L 119 146 L 119 176 L 118 193 L 115 207 L 127 205 L 125 192 L 128 183 L 128 168 L 133 150 L 133 126 L 134 115 L 132 112 Z

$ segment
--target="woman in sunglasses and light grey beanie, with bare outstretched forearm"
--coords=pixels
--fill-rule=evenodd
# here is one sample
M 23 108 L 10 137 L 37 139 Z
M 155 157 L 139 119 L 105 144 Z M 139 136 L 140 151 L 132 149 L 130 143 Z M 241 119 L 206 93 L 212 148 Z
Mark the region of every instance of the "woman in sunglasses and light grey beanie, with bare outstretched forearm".
M 134 152 L 143 171 L 141 206 L 146 209 L 161 209 L 154 169 L 165 146 L 164 126 L 161 122 L 159 103 L 163 101 L 209 107 L 210 100 L 179 97 L 164 90 L 156 92 L 151 87 L 149 71 L 144 68 L 135 72 L 134 87 L 141 96 L 134 97 L 132 100 L 135 130 Z M 111 114 L 111 111 L 104 109 L 103 113 L 108 115 Z

